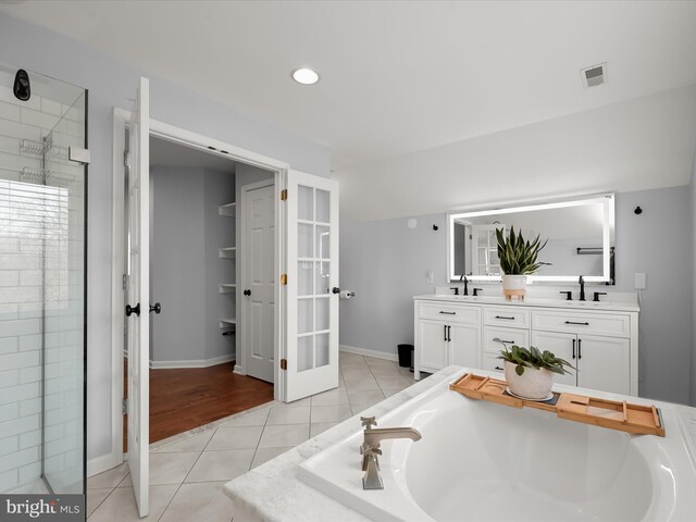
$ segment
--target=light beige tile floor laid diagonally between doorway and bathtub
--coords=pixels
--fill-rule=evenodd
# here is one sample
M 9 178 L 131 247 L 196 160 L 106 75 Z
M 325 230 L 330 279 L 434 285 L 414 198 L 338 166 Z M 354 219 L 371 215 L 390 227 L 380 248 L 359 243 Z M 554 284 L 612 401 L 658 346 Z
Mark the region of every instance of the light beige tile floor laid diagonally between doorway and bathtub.
M 341 352 L 336 389 L 289 405 L 270 402 L 152 445 L 146 519 L 138 518 L 127 464 L 88 478 L 88 520 L 231 522 L 226 482 L 413 383 L 413 374 L 395 362 Z

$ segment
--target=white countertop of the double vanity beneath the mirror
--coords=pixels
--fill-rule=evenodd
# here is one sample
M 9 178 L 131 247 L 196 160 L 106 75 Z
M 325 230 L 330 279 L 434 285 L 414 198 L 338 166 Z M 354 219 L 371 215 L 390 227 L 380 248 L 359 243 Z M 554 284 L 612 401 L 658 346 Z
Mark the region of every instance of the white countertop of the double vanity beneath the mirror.
M 592 293 L 591 293 L 592 295 Z M 523 301 L 513 299 L 506 300 L 502 296 L 456 296 L 453 294 L 426 294 L 414 296 L 415 300 L 425 301 L 447 301 L 462 304 L 495 304 L 502 307 L 535 307 L 535 308 L 563 308 L 587 311 L 613 311 L 613 312 L 638 312 L 641 308 L 635 302 L 623 301 L 568 301 L 566 299 L 545 299 L 538 297 L 527 297 Z

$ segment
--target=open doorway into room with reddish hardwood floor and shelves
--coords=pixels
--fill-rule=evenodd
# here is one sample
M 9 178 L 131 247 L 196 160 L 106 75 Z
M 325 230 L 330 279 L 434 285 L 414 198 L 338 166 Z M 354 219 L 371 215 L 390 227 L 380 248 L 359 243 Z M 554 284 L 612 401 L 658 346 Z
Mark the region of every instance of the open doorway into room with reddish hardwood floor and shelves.
M 271 171 L 152 136 L 149 157 L 149 435 L 157 443 L 273 400 L 275 186 Z M 240 201 L 238 191 L 263 200 Z M 237 207 L 257 232 L 245 236 L 249 248 L 236 240 L 245 222 L 238 226 Z M 244 286 L 252 286 L 254 306 L 246 314 L 237 313 L 241 256 L 253 260 Z M 247 348 L 245 372 L 237 356 Z M 266 368 L 253 365 L 259 353 Z

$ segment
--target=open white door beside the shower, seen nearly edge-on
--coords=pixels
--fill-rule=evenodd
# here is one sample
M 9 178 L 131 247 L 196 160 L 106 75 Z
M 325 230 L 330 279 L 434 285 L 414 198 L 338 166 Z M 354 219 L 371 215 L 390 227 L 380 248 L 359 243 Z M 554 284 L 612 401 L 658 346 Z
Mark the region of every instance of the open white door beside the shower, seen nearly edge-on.
M 149 341 L 150 341 L 150 115 L 149 83 L 140 86 L 128 128 L 126 198 L 128 265 L 126 285 L 128 353 L 128 468 L 140 517 L 148 514 L 149 484 Z

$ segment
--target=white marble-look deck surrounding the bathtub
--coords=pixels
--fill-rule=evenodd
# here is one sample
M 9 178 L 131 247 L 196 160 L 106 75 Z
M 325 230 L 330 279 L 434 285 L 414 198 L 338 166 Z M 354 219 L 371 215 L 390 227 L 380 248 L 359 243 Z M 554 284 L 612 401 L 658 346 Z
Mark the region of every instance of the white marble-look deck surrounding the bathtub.
M 451 381 L 461 370 L 461 366 L 447 366 L 428 378 L 424 378 L 373 406 L 363 413 L 369 413 L 380 419 L 396 407 L 436 386 L 438 383 Z M 636 399 L 638 402 L 645 400 Z M 655 401 L 655 403 L 660 406 L 658 401 Z M 696 408 L 678 406 L 678 411 L 685 428 L 688 431 L 694 447 L 696 447 Z M 225 484 L 225 494 L 235 502 L 235 519 L 237 519 L 237 510 L 240 509 L 253 520 L 264 521 L 369 520 L 357 511 L 304 484 L 297 475 L 297 470 L 301 462 L 360 431 L 359 419 L 360 415 L 352 417 Z M 240 519 L 244 519 L 244 517 L 240 517 Z

